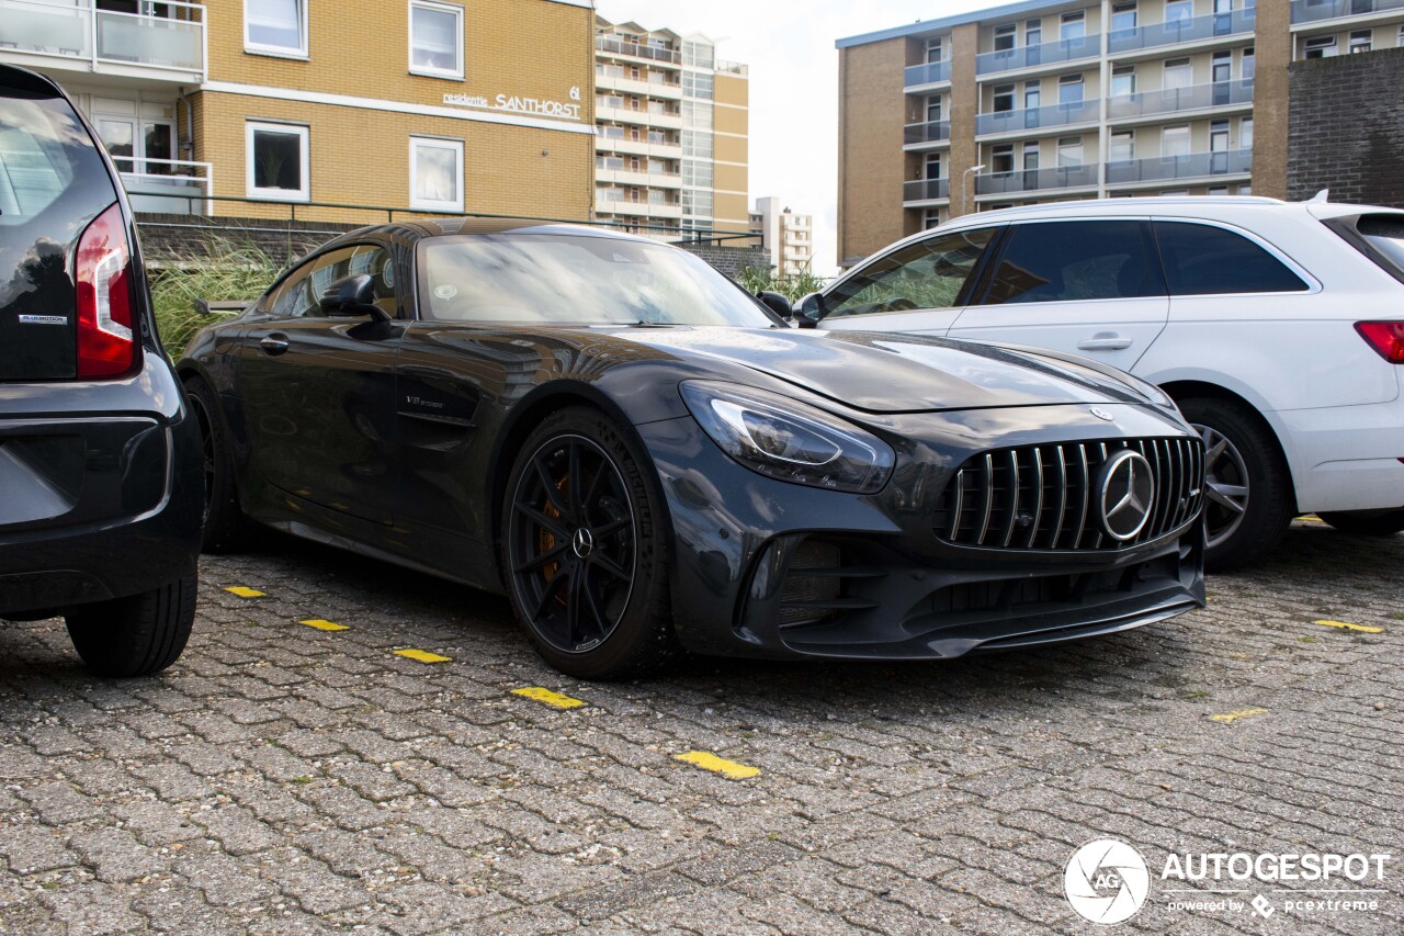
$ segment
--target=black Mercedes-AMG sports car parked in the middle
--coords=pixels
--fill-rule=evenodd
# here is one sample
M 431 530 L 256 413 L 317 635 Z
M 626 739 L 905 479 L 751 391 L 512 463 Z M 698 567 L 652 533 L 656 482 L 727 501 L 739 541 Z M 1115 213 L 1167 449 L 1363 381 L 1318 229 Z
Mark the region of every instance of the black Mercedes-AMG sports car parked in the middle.
M 949 658 L 1203 603 L 1203 453 L 1081 358 L 800 332 L 600 230 L 344 235 L 180 371 L 206 548 L 246 519 L 505 590 L 538 651 Z

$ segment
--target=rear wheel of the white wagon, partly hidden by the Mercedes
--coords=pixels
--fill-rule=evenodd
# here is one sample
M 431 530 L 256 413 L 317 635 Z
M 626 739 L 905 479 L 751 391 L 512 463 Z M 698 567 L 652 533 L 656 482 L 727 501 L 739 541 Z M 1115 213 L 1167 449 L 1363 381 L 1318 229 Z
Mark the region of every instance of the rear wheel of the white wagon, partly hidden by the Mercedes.
M 1216 396 L 1178 401 L 1205 440 L 1205 514 L 1210 572 L 1250 565 L 1278 545 L 1294 514 L 1286 461 L 1251 408 Z

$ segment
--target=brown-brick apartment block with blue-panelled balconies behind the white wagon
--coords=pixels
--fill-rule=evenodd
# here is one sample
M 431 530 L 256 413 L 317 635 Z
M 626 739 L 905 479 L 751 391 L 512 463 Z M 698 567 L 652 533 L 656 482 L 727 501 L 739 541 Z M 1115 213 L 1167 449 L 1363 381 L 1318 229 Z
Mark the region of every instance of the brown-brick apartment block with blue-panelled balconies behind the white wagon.
M 838 41 L 838 256 L 1074 198 L 1286 194 L 1287 66 L 1404 0 L 1031 0 Z

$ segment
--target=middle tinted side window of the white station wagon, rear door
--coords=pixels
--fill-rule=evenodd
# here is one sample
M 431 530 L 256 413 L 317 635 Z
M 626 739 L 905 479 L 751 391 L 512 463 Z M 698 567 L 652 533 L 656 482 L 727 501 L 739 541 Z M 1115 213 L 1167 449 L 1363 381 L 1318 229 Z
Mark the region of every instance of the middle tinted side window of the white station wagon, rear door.
M 1165 295 L 1150 230 L 1140 221 L 1014 226 L 981 305 Z

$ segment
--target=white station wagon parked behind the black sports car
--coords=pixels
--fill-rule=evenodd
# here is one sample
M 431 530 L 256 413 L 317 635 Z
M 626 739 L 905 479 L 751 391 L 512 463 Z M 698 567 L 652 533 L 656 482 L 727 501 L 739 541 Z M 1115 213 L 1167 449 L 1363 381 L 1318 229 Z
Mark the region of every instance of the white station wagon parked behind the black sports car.
M 1054 349 L 1158 385 L 1205 440 L 1210 568 L 1258 558 L 1300 513 L 1404 530 L 1404 211 L 1007 208 L 892 245 L 797 319 Z

